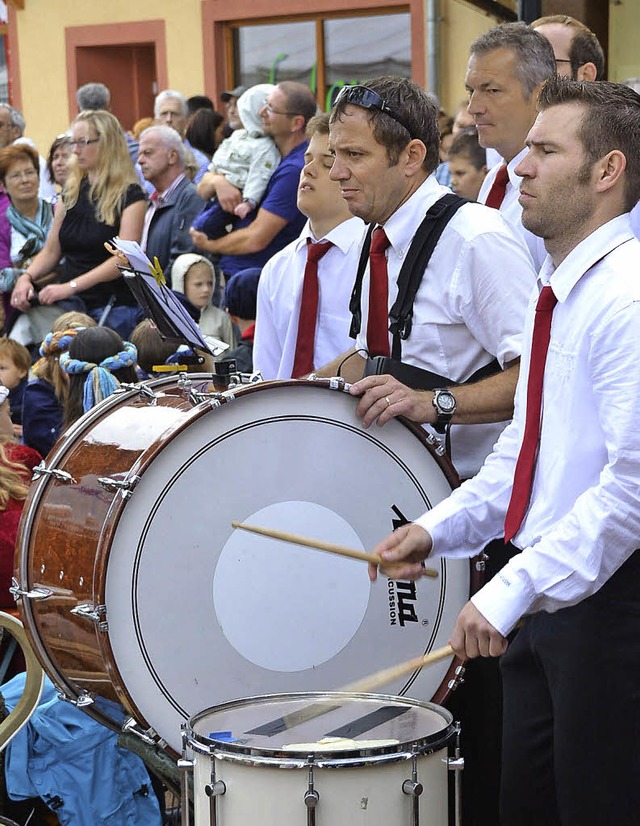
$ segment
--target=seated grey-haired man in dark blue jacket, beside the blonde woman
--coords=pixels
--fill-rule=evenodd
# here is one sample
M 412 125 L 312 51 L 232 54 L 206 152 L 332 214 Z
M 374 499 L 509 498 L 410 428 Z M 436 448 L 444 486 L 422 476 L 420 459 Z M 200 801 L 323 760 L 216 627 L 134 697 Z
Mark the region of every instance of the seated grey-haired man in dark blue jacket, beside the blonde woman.
M 170 280 L 171 266 L 185 252 L 194 252 L 189 229 L 204 207 L 195 185 L 185 175 L 184 145 L 168 126 L 150 126 L 140 135 L 138 163 L 155 187 L 145 215 L 142 248 Z

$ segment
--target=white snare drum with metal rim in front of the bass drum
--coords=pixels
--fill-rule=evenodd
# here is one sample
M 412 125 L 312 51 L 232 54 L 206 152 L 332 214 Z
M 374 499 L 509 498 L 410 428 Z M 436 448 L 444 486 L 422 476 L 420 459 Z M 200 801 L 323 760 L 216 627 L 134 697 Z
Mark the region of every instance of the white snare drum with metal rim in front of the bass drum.
M 446 826 L 455 734 L 440 706 L 385 694 L 207 709 L 184 730 L 195 826 Z

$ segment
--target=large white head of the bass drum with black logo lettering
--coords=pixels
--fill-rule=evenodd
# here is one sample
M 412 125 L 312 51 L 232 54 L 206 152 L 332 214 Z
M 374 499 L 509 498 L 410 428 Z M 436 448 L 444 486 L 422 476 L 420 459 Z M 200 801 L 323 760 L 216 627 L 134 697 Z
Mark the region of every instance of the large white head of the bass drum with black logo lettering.
M 301 382 L 205 403 L 146 467 L 109 553 L 108 638 L 132 703 L 176 751 L 181 724 L 237 697 L 340 688 L 447 643 L 468 562 L 438 579 L 235 531 L 231 521 L 370 551 L 451 492 L 404 425 L 365 430 L 350 396 Z M 385 687 L 428 700 L 449 663 Z

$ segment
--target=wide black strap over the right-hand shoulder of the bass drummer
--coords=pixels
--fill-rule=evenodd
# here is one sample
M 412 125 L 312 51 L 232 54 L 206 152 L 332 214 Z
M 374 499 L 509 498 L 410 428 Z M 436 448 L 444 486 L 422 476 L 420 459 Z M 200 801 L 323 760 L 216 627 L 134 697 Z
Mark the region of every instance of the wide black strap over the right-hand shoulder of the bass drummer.
M 391 357 L 394 359 L 402 358 L 401 342 L 406 341 L 411 335 L 413 304 L 431 255 L 444 228 L 460 207 L 466 203 L 468 203 L 466 198 L 461 198 L 459 195 L 453 193 L 443 195 L 427 210 L 423 222 L 413 237 L 398 275 L 398 297 L 389 311 L 389 331 L 393 336 Z

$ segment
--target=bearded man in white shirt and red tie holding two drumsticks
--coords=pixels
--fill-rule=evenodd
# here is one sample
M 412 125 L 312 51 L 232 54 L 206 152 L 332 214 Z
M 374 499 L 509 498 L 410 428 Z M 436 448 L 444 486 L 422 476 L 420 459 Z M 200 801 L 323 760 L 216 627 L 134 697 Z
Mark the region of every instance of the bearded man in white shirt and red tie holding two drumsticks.
M 427 557 L 514 534 L 520 552 L 467 603 L 451 637 L 462 657 L 506 650 L 502 826 L 632 824 L 640 243 L 628 213 L 640 196 L 640 96 L 555 78 L 539 106 L 517 173 L 523 223 L 549 256 L 527 314 L 513 421 L 474 479 L 375 552 L 387 576 L 417 579 Z M 557 301 L 546 348 L 534 321 L 545 290 Z

